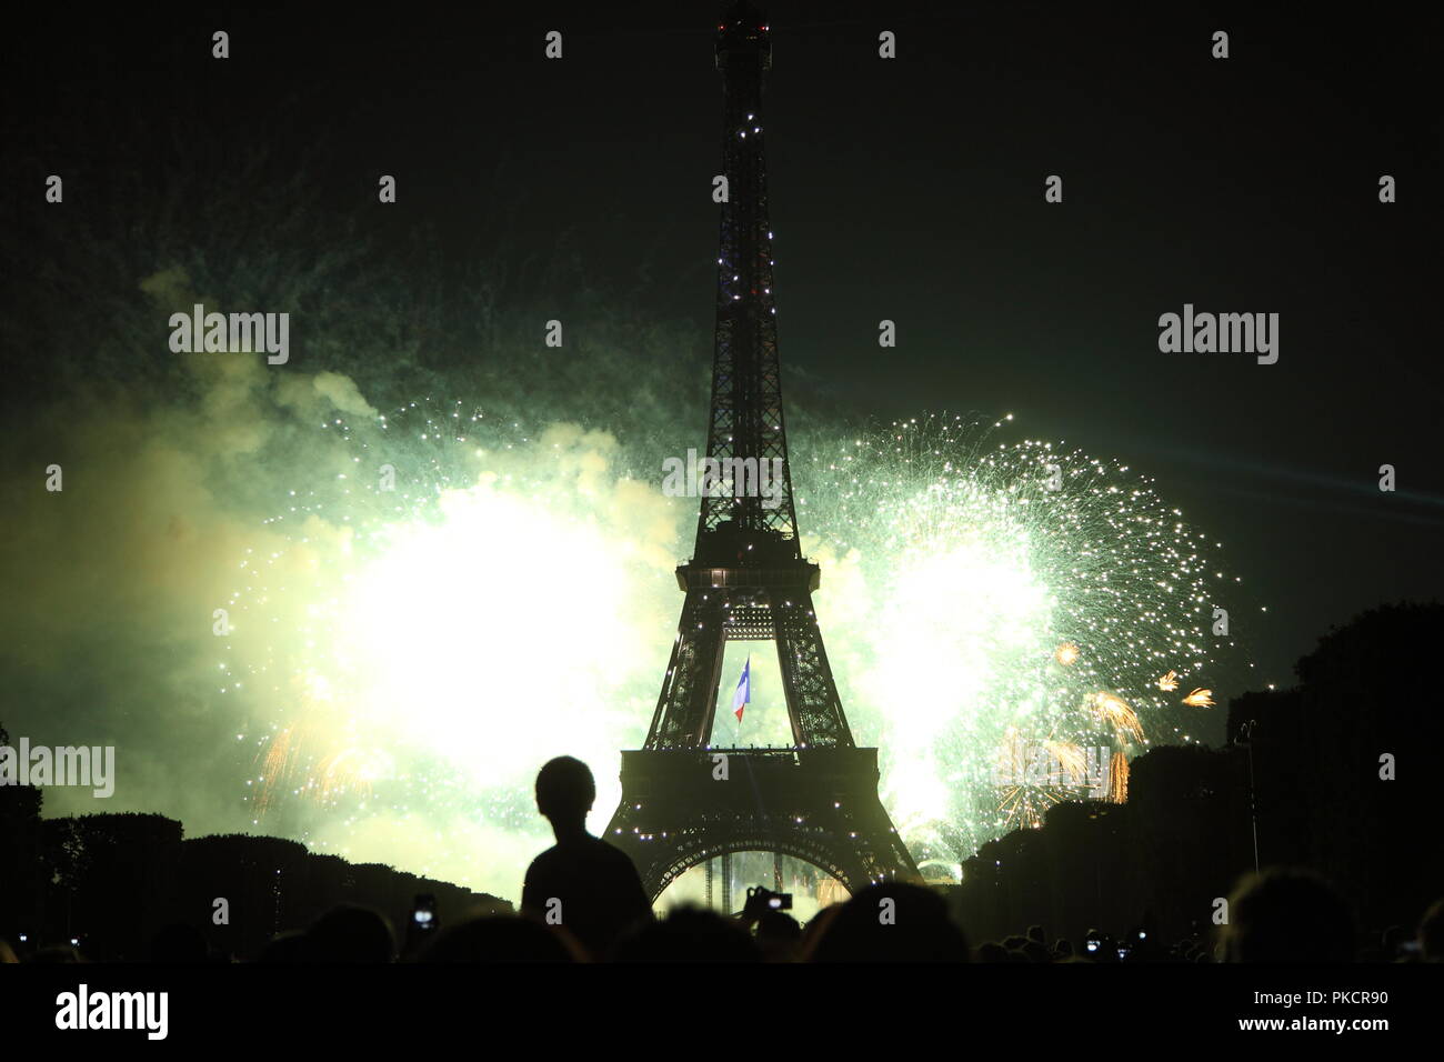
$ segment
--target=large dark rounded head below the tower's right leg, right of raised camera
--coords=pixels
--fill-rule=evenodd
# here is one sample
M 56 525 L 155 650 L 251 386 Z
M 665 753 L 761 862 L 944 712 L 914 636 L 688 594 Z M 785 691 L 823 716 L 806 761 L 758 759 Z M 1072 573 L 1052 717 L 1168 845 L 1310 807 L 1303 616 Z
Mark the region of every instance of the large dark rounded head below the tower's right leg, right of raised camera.
M 967 939 L 947 916 L 941 896 L 921 886 L 885 881 L 848 900 L 809 958 L 812 962 L 967 962 L 970 955 Z

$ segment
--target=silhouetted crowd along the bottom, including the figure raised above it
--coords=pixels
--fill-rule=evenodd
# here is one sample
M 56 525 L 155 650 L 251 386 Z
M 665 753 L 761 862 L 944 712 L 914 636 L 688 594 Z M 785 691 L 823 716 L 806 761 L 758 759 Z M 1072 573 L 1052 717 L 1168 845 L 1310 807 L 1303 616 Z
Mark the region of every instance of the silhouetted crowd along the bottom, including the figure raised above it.
M 585 763 L 549 761 L 537 774 L 537 809 L 556 845 L 527 870 L 521 912 L 484 913 L 436 929 L 416 918 L 397 938 L 391 920 L 357 903 L 334 906 L 303 931 L 274 936 L 261 964 L 375 962 L 1313 962 L 1444 961 L 1444 899 L 1409 936 L 1385 931 L 1357 948 L 1344 899 L 1305 870 L 1271 868 L 1242 880 L 1216 933 L 1168 945 L 1142 926 L 1119 936 L 1050 938 L 1041 925 L 970 946 L 943 894 L 891 881 L 861 889 L 806 926 L 781 910 L 748 903 L 735 916 L 679 906 L 656 918 L 631 860 L 586 832 L 596 786 Z M 429 910 L 419 905 L 417 910 Z M 33 952 L 0 941 L 0 962 L 84 962 L 75 945 Z M 231 962 L 193 925 L 172 923 L 150 942 L 152 962 Z

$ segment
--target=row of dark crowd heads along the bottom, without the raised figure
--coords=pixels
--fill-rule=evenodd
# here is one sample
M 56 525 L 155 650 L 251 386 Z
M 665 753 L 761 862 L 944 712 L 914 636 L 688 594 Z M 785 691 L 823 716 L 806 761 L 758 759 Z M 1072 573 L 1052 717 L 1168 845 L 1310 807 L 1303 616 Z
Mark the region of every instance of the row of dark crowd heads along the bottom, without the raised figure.
M 625 857 L 622 857 L 625 858 Z M 1386 931 L 1376 946 L 1356 949 L 1347 906 L 1320 878 L 1300 871 L 1266 871 L 1240 886 L 1238 919 L 1217 935 L 1171 944 L 1139 931 L 1109 936 L 1090 931 L 1083 941 L 1050 938 L 1043 926 L 1024 935 L 969 946 L 943 899 L 915 884 L 877 884 L 833 905 L 801 926 L 783 912 L 732 916 L 680 906 L 661 918 L 631 922 L 631 906 L 611 896 L 593 903 L 583 932 L 549 925 L 533 913 L 479 915 L 443 929 L 433 941 L 399 939 L 390 919 L 358 905 L 341 905 L 308 929 L 276 936 L 254 961 L 261 964 L 374 962 L 1441 962 L 1444 900 L 1435 902 L 1417 932 Z M 894 918 L 882 920 L 887 903 Z M 614 925 L 615 935 L 599 935 Z M 22 958 L 23 957 L 23 958 Z M 172 925 L 152 942 L 150 959 L 163 964 L 243 961 L 206 942 L 195 926 Z M 84 962 L 71 945 L 17 954 L 0 941 L 0 962 Z

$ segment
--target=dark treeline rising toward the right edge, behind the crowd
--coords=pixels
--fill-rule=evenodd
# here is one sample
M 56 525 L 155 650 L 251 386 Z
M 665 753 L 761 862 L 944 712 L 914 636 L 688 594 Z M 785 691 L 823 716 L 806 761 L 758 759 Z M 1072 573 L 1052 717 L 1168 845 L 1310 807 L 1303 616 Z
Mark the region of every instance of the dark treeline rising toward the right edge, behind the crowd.
M 1126 803 L 1061 803 L 983 845 L 952 890 L 956 916 L 973 939 L 1028 925 L 1181 939 L 1212 929 L 1253 870 L 1256 826 L 1259 864 L 1321 874 L 1360 931 L 1415 925 L 1444 894 L 1441 646 L 1438 604 L 1330 631 L 1295 688 L 1230 704 L 1226 747 L 1155 748 L 1132 763 Z

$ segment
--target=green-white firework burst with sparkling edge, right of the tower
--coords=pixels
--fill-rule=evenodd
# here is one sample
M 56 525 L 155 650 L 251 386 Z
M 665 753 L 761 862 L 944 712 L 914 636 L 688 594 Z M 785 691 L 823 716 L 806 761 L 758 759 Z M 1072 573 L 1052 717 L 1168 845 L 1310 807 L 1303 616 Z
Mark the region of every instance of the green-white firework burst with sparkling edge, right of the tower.
M 849 720 L 915 854 L 966 857 L 1080 796 L 1066 770 L 999 785 L 1009 743 L 1103 747 L 1089 789 L 1125 792 L 1128 756 L 1190 740 L 1157 676 L 1209 673 L 1232 647 L 1209 633 L 1212 543 L 1149 480 L 1009 431 L 898 422 L 796 477 Z

